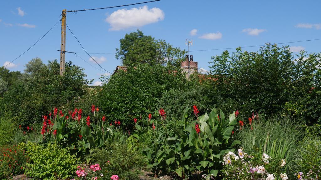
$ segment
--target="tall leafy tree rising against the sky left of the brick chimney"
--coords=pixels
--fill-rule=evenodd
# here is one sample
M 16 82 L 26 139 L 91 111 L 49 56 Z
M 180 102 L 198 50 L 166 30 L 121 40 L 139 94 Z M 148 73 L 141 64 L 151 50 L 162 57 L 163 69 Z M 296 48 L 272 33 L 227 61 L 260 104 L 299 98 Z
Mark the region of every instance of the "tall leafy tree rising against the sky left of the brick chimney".
M 120 39 L 120 48 L 116 49 L 116 59 L 124 66 L 135 66 L 138 63 L 165 64 L 180 67 L 186 51 L 173 48 L 164 40 L 155 40 L 145 36 L 142 31 L 131 32 Z

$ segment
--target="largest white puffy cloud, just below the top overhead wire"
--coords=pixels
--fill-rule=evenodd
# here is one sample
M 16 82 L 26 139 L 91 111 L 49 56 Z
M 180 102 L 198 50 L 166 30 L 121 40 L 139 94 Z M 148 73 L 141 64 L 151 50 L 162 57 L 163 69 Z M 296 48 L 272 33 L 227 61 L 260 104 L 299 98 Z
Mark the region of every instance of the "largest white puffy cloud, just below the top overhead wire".
M 119 9 L 110 14 L 106 18 L 111 26 L 109 30 L 122 30 L 127 28 L 138 28 L 146 24 L 151 24 L 163 20 L 164 12 L 160 8 L 148 9 L 145 5 L 143 7 L 127 9 Z

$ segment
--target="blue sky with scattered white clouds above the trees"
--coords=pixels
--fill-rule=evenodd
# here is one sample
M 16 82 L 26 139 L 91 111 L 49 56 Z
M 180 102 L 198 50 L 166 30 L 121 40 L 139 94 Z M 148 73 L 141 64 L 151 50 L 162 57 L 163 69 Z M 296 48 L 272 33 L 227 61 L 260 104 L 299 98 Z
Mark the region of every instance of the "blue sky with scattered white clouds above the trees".
M 0 3 L 0 65 L 12 61 L 43 36 L 56 22 L 63 9 L 82 10 L 144 0 L 123 1 L 2 1 Z M 96 11 L 67 13 L 67 25 L 89 53 L 115 53 L 119 39 L 140 29 L 145 35 L 164 39 L 174 47 L 187 49 L 186 39 L 193 39 L 190 50 L 262 45 L 321 38 L 321 1 L 192 1 L 163 0 L 148 4 Z M 39 43 L 8 67 L 24 70 L 32 58 L 45 63 L 60 57 L 60 23 Z M 291 43 L 298 53 L 305 49 L 320 52 L 321 40 Z M 259 47 L 244 48 L 257 51 Z M 67 30 L 66 51 L 83 52 Z M 199 68 L 208 70 L 211 57 L 223 50 L 191 52 Z M 229 50 L 233 52 L 234 50 Z M 80 57 L 98 67 L 86 54 Z M 113 72 L 120 61 L 114 54 L 91 54 L 100 65 Z M 85 68 L 89 79 L 99 84 L 101 71 L 74 54 L 66 61 Z

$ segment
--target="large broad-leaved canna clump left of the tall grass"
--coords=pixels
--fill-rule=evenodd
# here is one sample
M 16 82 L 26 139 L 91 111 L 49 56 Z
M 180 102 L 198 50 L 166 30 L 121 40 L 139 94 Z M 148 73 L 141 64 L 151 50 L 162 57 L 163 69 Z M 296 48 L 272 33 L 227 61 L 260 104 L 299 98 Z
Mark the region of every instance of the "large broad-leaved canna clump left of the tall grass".
M 222 111 L 218 115 L 213 108 L 209 115 L 196 116 L 196 120 L 188 123 L 189 111 L 186 108 L 183 114 L 182 127 L 166 127 L 163 118 L 155 122 L 154 143 L 143 154 L 149 162 L 147 168 L 152 168 L 156 176 L 167 170 L 183 178 L 195 170 L 217 176 L 223 155 L 235 151 L 233 147 L 239 141 L 230 139 L 237 122 L 235 113 L 226 119 Z

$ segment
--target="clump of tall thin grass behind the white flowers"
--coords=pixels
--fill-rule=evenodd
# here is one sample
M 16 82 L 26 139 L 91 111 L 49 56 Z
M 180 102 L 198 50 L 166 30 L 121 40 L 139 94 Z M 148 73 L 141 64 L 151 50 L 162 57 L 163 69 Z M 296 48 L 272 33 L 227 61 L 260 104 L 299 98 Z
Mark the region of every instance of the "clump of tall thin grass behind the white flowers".
M 247 125 L 236 133 L 236 138 L 241 141 L 240 146 L 244 151 L 252 152 L 256 149 L 260 154 L 285 159 L 286 168 L 291 168 L 298 149 L 297 143 L 304 137 L 301 122 L 301 119 L 281 115 L 255 118 L 252 122 L 253 129 L 245 121 Z

